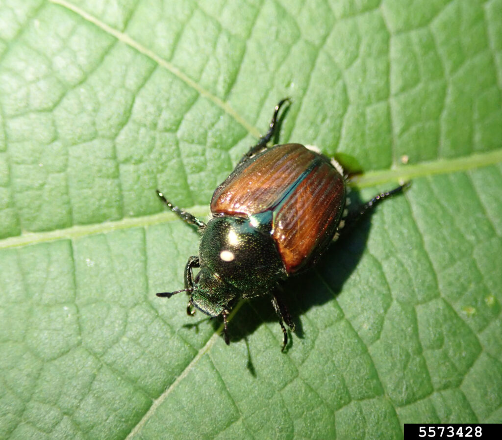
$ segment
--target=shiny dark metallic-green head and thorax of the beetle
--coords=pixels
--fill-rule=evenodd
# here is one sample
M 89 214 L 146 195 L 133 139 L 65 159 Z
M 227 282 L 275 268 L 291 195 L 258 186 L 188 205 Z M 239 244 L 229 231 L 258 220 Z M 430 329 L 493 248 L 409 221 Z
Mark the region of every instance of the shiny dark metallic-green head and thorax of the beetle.
M 276 285 L 284 267 L 264 220 L 215 217 L 207 223 L 192 292 L 198 309 L 217 316 L 232 299 L 263 295 Z

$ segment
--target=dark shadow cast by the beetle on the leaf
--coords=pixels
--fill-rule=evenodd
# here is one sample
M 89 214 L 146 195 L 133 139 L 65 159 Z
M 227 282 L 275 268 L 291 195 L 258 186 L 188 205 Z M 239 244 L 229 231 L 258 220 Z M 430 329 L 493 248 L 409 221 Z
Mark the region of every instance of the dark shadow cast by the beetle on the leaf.
M 358 191 L 352 190 L 349 194 L 351 201 L 350 211 L 363 204 Z M 344 233 L 333 242 L 319 258 L 314 268 L 289 278 L 282 285 L 281 297 L 286 304 L 293 321 L 295 331 L 289 332 L 288 349 L 294 347 L 295 339 L 304 338 L 301 316 L 314 306 L 323 305 L 341 292 L 343 285 L 356 268 L 366 247 L 369 230 L 371 227 L 371 214 L 368 211 L 350 229 L 342 230 Z M 220 327 L 222 319 L 215 318 L 210 321 L 214 329 Z M 228 322 L 228 336 L 230 343 L 244 340 L 248 348 L 248 369 L 255 375 L 252 359 L 249 354 L 247 337 L 253 334 L 263 322 L 277 323 L 277 338 L 282 340 L 279 318 L 271 303 L 271 296 L 265 295 L 245 300 L 239 311 Z M 280 343 L 277 347 L 281 349 Z

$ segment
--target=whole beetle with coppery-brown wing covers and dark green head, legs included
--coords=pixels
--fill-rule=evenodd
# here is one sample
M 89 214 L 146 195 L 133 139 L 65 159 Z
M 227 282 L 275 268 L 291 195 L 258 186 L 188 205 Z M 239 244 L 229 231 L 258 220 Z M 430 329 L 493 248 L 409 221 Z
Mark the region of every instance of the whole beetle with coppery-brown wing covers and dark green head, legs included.
M 193 307 L 205 314 L 223 316 L 223 335 L 229 344 L 227 316 L 238 298 L 269 294 L 279 316 L 284 351 L 295 324 L 279 294 L 279 283 L 311 268 L 345 224 L 353 224 L 368 210 L 408 186 L 376 195 L 347 216 L 347 176 L 334 160 L 300 144 L 268 147 L 277 128 L 281 100 L 269 130 L 251 147 L 211 199 L 207 224 L 161 200 L 201 235 L 199 255 L 185 266 L 185 288 L 157 293 L 171 297 L 187 292 L 188 314 Z M 196 276 L 193 270 L 200 268 Z

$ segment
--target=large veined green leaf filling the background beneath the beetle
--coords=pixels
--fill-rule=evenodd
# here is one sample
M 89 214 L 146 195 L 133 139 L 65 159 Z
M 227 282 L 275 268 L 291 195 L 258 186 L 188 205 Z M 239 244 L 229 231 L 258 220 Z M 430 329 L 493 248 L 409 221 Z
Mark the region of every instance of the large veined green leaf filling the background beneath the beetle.
M 502 1 L 0 0 L 0 438 L 502 422 Z M 198 216 L 280 141 L 412 179 L 286 287 L 186 315 Z M 407 162 L 407 163 L 406 163 Z

